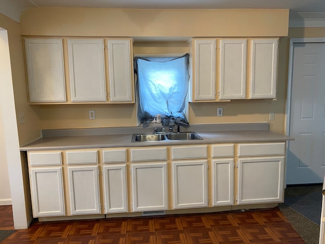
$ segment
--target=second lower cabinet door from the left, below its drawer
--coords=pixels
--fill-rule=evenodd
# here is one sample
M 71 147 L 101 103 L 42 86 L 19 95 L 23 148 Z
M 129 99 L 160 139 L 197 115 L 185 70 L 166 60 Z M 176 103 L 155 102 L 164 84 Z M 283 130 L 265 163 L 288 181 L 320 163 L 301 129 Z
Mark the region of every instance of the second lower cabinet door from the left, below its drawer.
M 100 214 L 98 166 L 68 167 L 72 215 Z

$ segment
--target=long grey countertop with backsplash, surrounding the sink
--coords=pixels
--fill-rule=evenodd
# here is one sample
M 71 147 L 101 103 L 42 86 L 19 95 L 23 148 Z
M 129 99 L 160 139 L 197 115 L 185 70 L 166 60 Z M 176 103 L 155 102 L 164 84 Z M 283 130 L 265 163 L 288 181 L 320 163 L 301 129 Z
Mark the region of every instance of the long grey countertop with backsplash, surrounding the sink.
M 233 125 L 233 126 L 232 126 Z M 187 144 L 273 142 L 294 140 L 283 134 L 268 130 L 268 123 L 229 124 L 229 125 L 194 125 L 186 131 L 195 131 L 203 140 L 168 140 L 155 142 L 131 142 L 134 133 L 152 132 L 152 128 L 117 128 L 112 129 L 73 129 L 43 132 L 43 137 L 20 147 L 28 150 L 64 150 L 82 148 L 134 147 L 134 146 L 169 146 Z M 185 130 L 181 130 L 183 132 Z M 123 132 L 123 133 L 121 133 Z M 133 133 L 132 133 L 133 132 Z M 104 133 L 104 134 L 103 134 Z M 119 134 L 120 133 L 120 134 Z

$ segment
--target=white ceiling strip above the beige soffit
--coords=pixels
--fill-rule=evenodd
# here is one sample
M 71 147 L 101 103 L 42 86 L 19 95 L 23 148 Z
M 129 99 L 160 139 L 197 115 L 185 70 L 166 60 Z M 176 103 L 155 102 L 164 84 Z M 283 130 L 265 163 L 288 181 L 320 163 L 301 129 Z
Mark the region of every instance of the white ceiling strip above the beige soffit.
M 0 13 L 19 22 L 26 8 L 290 9 L 290 18 L 325 18 L 325 0 L 0 0 Z

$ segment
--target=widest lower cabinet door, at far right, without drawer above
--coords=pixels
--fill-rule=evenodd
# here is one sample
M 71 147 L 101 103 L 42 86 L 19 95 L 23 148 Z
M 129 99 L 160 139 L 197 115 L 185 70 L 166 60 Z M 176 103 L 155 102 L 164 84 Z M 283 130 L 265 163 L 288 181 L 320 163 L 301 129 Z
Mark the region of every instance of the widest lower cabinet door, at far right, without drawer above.
M 238 160 L 238 204 L 283 201 L 284 157 Z

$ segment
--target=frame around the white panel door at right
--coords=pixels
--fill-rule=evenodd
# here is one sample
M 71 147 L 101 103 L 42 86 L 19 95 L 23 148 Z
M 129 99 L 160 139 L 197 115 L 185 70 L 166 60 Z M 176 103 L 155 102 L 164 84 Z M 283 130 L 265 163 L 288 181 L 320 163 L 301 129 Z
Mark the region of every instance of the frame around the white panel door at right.
M 293 84 L 293 68 L 294 68 L 294 44 L 295 43 L 325 43 L 325 38 L 290 38 L 289 46 L 289 64 L 288 64 L 288 86 L 287 86 L 287 100 L 286 100 L 286 114 L 285 114 L 285 135 L 290 133 L 290 115 L 291 115 L 291 90 Z M 289 149 L 289 143 L 286 143 L 286 151 Z M 288 154 L 285 154 L 285 162 L 288 162 Z M 287 168 L 285 167 L 285 188 Z

